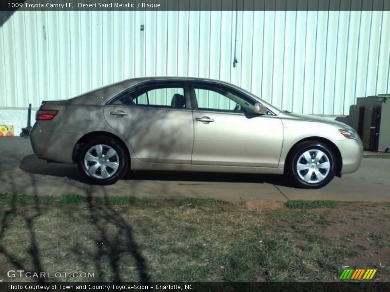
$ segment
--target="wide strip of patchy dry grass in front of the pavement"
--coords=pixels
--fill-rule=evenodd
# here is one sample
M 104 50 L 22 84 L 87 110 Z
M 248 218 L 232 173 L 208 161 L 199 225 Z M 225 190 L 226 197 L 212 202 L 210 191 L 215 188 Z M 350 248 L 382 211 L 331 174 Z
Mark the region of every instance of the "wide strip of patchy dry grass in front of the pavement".
M 74 195 L 15 204 L 2 196 L 3 281 L 20 280 L 7 277 L 11 269 L 95 273 L 62 281 L 333 281 L 343 265 L 377 268 L 377 280 L 390 280 L 386 203 L 254 209 Z

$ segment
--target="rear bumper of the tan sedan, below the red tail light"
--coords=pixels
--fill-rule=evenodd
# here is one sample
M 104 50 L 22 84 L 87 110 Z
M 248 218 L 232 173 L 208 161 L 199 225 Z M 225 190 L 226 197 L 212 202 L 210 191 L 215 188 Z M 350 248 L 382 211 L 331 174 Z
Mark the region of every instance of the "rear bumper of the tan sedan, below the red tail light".
M 31 146 L 41 159 L 51 162 L 73 164 L 73 149 L 80 138 L 79 135 L 52 132 L 43 127 L 46 121 L 35 123 L 30 132 Z

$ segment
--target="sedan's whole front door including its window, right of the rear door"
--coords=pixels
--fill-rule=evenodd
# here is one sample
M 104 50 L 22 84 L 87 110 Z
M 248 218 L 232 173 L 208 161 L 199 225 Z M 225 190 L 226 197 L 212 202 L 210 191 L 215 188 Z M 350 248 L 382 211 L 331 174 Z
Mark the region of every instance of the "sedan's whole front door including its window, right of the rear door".
M 256 101 L 228 87 L 194 84 L 192 163 L 277 167 L 283 144 L 282 121 L 251 113 Z

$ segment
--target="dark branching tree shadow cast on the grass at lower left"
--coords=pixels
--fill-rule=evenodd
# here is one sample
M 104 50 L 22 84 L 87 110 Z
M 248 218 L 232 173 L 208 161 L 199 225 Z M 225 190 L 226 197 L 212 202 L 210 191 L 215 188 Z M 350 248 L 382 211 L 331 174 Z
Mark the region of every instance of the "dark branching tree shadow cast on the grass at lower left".
M 1 178 L 4 178 L 4 176 L 0 173 Z M 49 240 L 50 244 L 53 245 L 62 242 L 61 244 L 66 246 L 69 244 L 67 243 L 68 238 L 72 237 L 72 232 L 66 232 L 66 229 L 64 229 L 63 238 L 45 237 L 42 234 L 39 222 L 42 216 L 47 213 L 47 208 L 50 207 L 41 201 L 41 195 L 44 194 L 39 194 L 34 175 L 29 178 L 33 186 L 33 205 L 31 207 L 23 206 L 19 201 L 17 190 L 14 188 L 10 194 L 12 197 L 11 203 L 0 207 L 0 275 L 1 278 L 5 277 L 5 281 L 19 281 L 20 279 L 19 274 L 16 278 L 7 277 L 7 271 L 10 267 L 23 270 L 25 273 L 29 272 L 30 275 L 49 272 L 47 271 L 47 265 L 50 266 L 50 264 L 47 261 L 58 259 L 58 255 L 50 254 L 47 241 Z M 13 182 L 9 183 L 15 185 Z M 71 183 L 72 181 L 69 181 L 69 184 Z M 104 187 L 102 189 L 104 197 L 107 198 L 106 190 Z M 88 230 L 81 233 L 82 237 L 77 237 L 74 246 L 67 248 L 68 251 L 71 251 L 68 256 L 74 258 L 72 266 L 86 267 L 87 263 L 93 263 L 95 275 L 89 280 L 119 283 L 124 281 L 124 277 L 128 276 L 128 274 L 121 271 L 121 265 L 123 267 L 126 262 L 131 262 L 134 266 L 135 278 L 142 282 L 150 281 L 148 263 L 134 238 L 132 224 L 124 219 L 115 210 L 115 207 L 99 205 L 93 200 L 95 186 L 80 188 L 79 193 L 87 198 L 87 204 L 83 208 L 85 212 L 82 212 L 82 216 L 75 217 L 74 208 L 69 208 L 69 210 L 65 208 L 64 211 L 61 211 L 66 212 L 68 218 L 72 219 L 73 222 L 78 221 L 79 226 L 86 223 L 90 226 Z M 12 235 L 8 230 L 12 230 L 13 226 L 19 226 L 20 224 L 23 226 L 23 240 L 25 241 L 25 248 L 22 251 L 15 250 L 12 245 L 5 244 L 6 239 L 9 239 Z M 79 228 L 78 224 L 73 225 L 71 228 Z M 62 228 L 66 228 L 66 226 L 67 223 L 62 222 Z M 46 233 L 50 234 L 50 230 L 44 230 L 44 234 Z M 72 271 L 62 272 L 72 273 Z M 45 276 L 33 276 L 33 278 L 30 276 L 22 280 L 48 282 L 53 279 L 48 279 Z M 63 279 L 54 278 L 54 280 Z

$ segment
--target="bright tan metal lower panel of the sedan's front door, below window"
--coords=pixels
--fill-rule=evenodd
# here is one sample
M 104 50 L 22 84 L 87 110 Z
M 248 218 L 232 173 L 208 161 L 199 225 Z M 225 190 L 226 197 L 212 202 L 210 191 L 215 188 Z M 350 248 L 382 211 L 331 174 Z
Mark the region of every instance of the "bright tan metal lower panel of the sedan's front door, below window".
M 277 167 L 283 125 L 277 116 L 194 110 L 193 164 Z M 204 123 L 196 118 L 209 117 Z

